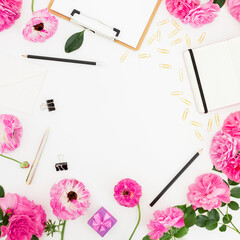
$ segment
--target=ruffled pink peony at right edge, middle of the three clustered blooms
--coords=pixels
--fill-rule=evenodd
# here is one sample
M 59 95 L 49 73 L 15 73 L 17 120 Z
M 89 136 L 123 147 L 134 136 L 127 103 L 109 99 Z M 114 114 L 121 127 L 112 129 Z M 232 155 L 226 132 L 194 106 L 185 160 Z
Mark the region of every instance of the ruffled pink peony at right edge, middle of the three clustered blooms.
M 217 170 L 223 171 L 228 160 L 235 157 L 240 150 L 240 142 L 229 134 L 219 131 L 212 139 L 210 156 Z

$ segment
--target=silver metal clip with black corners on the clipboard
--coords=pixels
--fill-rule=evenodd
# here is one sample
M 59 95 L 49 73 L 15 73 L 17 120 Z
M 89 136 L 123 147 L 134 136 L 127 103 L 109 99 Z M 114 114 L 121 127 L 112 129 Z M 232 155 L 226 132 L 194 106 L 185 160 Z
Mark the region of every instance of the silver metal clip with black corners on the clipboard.
M 77 14 L 77 17 L 76 17 L 76 14 Z M 77 25 L 80 25 L 86 29 L 89 29 L 90 31 L 92 31 L 94 33 L 97 33 L 104 37 L 110 38 L 112 41 L 117 39 L 117 37 L 120 34 L 119 29 L 109 26 L 109 25 L 99 21 L 98 19 L 87 16 L 76 9 L 73 9 L 71 16 L 72 16 L 70 18 L 71 22 L 73 22 Z M 81 19 L 80 19 L 80 17 L 81 17 Z M 84 19 L 87 20 L 88 23 L 83 23 Z

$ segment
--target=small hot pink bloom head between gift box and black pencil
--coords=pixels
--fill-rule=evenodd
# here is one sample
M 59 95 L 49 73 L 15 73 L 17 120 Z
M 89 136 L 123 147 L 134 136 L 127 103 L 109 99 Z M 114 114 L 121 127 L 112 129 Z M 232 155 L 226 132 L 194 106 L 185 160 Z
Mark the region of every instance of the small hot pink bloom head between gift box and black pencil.
M 134 180 L 126 178 L 114 187 L 114 198 L 124 207 L 135 207 L 142 196 L 142 187 Z

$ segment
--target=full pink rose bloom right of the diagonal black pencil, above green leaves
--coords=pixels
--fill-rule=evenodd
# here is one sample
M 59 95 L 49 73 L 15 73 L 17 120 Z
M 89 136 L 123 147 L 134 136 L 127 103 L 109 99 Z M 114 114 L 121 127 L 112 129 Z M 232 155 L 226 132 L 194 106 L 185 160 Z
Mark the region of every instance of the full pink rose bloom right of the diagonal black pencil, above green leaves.
M 228 185 L 212 173 L 197 177 L 195 183 L 189 186 L 187 196 L 194 209 L 203 208 L 208 211 L 219 208 L 222 202 L 230 202 Z

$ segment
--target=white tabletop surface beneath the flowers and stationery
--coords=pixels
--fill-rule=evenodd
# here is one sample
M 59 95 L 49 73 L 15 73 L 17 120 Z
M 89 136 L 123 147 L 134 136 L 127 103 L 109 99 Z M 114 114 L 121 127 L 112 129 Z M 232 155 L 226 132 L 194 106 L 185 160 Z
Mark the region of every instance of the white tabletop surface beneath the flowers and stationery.
M 48 1 L 36 1 L 36 9 L 41 9 Z M 79 31 L 75 25 L 59 20 L 59 30 L 46 43 L 31 43 L 22 38 L 22 29 L 30 19 L 30 1 L 24 1 L 20 20 L 10 29 L 0 33 L 0 51 L 17 56 L 38 54 L 76 59 L 94 59 L 105 63 L 103 67 L 81 66 L 55 62 L 36 62 L 48 68 L 48 76 L 43 86 L 37 107 L 32 116 L 26 116 L 7 108 L 1 113 L 18 116 L 24 128 L 22 143 L 11 157 L 33 161 L 41 138 L 47 127 L 51 128 L 45 152 L 39 163 L 31 186 L 25 184 L 28 171 L 12 162 L 0 160 L 0 183 L 7 192 L 17 192 L 42 204 L 48 217 L 54 217 L 49 205 L 51 186 L 65 177 L 82 181 L 91 193 L 91 207 L 78 220 L 67 223 L 65 240 L 101 239 L 87 221 L 104 206 L 118 223 L 106 235 L 105 240 L 127 240 L 137 221 L 137 209 L 119 206 L 113 198 L 113 188 L 122 178 L 132 178 L 143 187 L 141 198 L 142 221 L 134 240 L 141 240 L 148 232 L 147 224 L 157 209 L 187 202 L 187 188 L 195 177 L 210 172 L 212 168 L 208 151 L 213 134 L 219 129 L 214 113 L 200 115 L 195 106 L 190 107 L 186 121 L 182 113 L 186 108 L 180 99 L 185 97 L 193 103 L 192 91 L 184 70 L 184 82 L 179 81 L 178 71 L 184 69 L 182 53 L 187 49 L 185 34 L 191 37 L 193 47 L 198 46 L 198 38 L 206 32 L 203 44 L 225 40 L 240 35 L 239 23 L 222 9 L 215 22 L 200 29 L 182 26 L 182 31 L 168 38 L 174 27 L 169 23 L 161 27 L 162 39 L 151 46 L 148 39 L 157 31 L 156 22 L 173 19 L 162 3 L 155 21 L 139 52 L 129 52 L 120 63 L 125 48 L 107 39 L 87 33 L 81 49 L 64 53 L 67 38 Z M 175 46 L 170 42 L 181 37 L 184 41 Z M 160 54 L 157 48 L 170 50 L 169 55 Z M 150 53 L 151 58 L 139 59 L 138 54 Z M 160 63 L 169 63 L 172 69 L 159 68 Z M 174 90 L 184 91 L 184 96 L 171 96 Z M 53 98 L 57 110 L 49 113 L 40 110 L 40 104 Z M 39 107 L 38 107 L 39 106 Z M 239 110 L 239 105 L 218 111 L 221 124 L 231 112 Z M 207 121 L 213 119 L 213 129 L 207 132 Z M 190 125 L 195 120 L 202 128 Z M 201 142 L 194 135 L 198 129 L 203 135 Z M 202 155 L 172 186 L 153 207 L 149 203 L 171 180 L 178 170 L 200 148 Z M 57 155 L 64 154 L 69 171 L 56 172 L 54 164 Z M 239 218 L 234 219 L 240 226 Z M 220 234 L 218 230 L 192 228 L 184 240 L 237 240 L 234 232 Z M 60 239 L 58 235 L 54 238 Z

